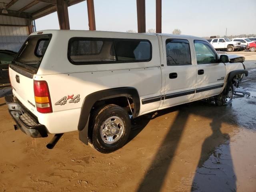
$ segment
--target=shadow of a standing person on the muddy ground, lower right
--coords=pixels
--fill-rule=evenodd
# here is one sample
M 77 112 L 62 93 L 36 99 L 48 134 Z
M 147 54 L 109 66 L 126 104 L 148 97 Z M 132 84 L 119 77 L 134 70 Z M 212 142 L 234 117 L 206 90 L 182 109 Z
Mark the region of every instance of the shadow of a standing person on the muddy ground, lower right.
M 202 144 L 191 192 L 236 192 L 236 174 L 230 153 L 230 136 L 221 132 L 221 118 L 210 123 L 212 135 Z

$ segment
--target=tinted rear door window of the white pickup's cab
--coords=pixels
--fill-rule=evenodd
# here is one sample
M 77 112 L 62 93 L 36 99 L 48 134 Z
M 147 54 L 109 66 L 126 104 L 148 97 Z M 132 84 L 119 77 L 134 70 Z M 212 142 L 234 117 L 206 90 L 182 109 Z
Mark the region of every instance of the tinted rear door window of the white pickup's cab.
M 166 40 L 167 65 L 191 65 L 191 54 L 188 40 Z

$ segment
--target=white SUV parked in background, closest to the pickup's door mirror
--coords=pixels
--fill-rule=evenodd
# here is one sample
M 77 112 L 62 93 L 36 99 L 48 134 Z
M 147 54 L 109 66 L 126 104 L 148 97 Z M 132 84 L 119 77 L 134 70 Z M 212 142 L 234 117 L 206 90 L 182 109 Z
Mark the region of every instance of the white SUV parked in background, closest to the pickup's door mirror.
M 232 42 L 229 38 L 210 38 L 208 42 L 212 44 L 216 50 L 226 50 L 227 52 L 233 52 L 242 50 L 240 42 Z

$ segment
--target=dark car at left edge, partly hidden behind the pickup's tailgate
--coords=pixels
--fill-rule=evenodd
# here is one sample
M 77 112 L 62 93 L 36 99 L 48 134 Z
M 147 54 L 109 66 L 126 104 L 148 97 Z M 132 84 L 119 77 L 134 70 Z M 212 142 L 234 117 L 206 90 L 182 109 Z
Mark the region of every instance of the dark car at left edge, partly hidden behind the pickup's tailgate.
M 8 69 L 15 56 L 16 52 L 0 49 L 0 88 L 10 86 Z

